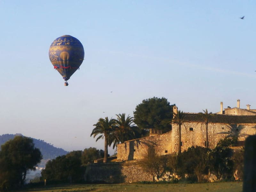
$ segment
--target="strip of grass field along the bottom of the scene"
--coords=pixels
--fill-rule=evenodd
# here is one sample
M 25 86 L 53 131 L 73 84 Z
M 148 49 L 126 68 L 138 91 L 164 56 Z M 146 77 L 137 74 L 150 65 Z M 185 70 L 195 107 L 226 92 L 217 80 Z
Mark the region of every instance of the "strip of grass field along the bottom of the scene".
M 26 192 L 242 192 L 242 182 L 201 184 L 83 184 L 31 188 Z

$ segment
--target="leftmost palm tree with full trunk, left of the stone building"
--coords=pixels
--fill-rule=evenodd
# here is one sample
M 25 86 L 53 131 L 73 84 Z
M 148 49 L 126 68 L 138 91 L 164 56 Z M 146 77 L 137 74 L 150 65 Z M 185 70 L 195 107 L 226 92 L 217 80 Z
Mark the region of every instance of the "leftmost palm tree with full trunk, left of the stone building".
M 96 135 L 100 134 L 100 136 L 96 139 L 96 142 L 100 138 L 105 138 L 105 149 L 104 149 L 104 159 L 103 163 L 107 162 L 108 158 L 108 145 L 111 145 L 111 142 L 109 138 L 111 137 L 111 134 L 114 132 L 114 127 L 116 125 L 115 119 L 108 120 L 108 117 L 105 117 L 105 119 L 100 118 L 99 121 L 94 124 L 95 128 L 92 130 L 91 137 L 93 135 L 93 138 L 96 137 Z

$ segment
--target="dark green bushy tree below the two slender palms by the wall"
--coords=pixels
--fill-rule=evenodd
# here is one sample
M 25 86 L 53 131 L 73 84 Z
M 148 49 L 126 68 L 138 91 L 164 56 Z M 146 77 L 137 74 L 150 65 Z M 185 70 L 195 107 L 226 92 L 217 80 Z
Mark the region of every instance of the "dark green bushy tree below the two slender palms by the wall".
M 203 175 L 211 168 L 211 150 L 192 146 L 178 156 L 178 167 L 181 174 L 195 175 L 197 181 L 203 181 Z

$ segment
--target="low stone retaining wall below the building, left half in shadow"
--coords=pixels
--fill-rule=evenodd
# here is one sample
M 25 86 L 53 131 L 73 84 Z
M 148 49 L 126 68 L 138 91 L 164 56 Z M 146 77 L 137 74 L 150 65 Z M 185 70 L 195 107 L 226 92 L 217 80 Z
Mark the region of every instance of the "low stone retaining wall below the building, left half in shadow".
M 143 171 L 137 161 L 88 164 L 84 179 L 87 182 L 106 183 L 153 181 L 152 176 Z

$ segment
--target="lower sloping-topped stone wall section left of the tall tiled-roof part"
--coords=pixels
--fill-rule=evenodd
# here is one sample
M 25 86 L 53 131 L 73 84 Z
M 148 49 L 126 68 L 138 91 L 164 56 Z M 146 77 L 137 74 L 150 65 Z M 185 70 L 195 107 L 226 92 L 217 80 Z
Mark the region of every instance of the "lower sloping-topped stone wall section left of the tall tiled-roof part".
M 143 159 L 148 153 L 167 155 L 172 153 L 172 132 L 130 140 L 117 146 L 117 160 Z

